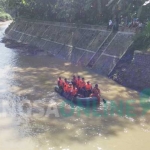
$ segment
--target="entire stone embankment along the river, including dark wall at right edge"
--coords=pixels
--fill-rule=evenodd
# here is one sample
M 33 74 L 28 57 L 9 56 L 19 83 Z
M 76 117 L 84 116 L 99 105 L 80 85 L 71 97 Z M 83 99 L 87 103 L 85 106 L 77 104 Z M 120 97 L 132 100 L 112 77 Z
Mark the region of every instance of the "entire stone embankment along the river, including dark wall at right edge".
M 105 27 L 16 20 L 6 37 L 31 45 L 74 64 L 111 77 L 128 87 L 150 87 L 150 54 L 135 52 L 132 61 L 120 63 L 130 51 L 134 32 L 112 32 Z

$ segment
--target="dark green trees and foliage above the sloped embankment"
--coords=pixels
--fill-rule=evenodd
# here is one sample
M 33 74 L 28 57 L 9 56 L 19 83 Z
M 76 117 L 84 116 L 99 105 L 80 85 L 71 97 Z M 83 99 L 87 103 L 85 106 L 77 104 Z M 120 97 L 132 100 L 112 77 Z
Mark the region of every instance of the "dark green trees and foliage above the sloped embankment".
M 101 24 L 109 19 L 150 19 L 146 0 L 6 0 L 18 17 L 50 21 Z M 144 7 L 144 8 L 143 8 Z M 145 9 L 146 7 L 146 9 Z M 145 11 L 146 10 L 146 11 Z M 146 15 L 145 15 L 146 14 Z M 144 16 L 144 17 L 143 17 Z

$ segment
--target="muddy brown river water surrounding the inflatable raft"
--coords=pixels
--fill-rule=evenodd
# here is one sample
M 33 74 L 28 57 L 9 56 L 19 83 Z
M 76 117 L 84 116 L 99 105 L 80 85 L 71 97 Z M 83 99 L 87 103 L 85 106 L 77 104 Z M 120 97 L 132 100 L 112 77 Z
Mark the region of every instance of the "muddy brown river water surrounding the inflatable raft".
M 1 37 L 6 27 L 0 27 Z M 58 96 L 57 77 L 72 74 L 98 82 L 107 103 L 87 110 Z M 142 115 L 139 99 L 136 91 L 85 68 L 52 56 L 23 55 L 0 43 L 0 150 L 149 150 L 150 112 Z M 128 100 L 134 100 L 130 114 L 120 106 Z M 118 106 L 114 112 L 112 101 Z

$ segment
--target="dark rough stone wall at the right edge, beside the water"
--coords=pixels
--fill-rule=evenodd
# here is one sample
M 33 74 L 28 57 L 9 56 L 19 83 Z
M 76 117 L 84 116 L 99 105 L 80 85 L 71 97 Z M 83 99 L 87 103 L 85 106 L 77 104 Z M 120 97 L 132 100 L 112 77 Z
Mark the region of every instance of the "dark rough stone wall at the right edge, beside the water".
M 131 63 L 120 66 L 115 70 L 114 80 L 137 90 L 150 88 L 150 53 L 135 51 Z

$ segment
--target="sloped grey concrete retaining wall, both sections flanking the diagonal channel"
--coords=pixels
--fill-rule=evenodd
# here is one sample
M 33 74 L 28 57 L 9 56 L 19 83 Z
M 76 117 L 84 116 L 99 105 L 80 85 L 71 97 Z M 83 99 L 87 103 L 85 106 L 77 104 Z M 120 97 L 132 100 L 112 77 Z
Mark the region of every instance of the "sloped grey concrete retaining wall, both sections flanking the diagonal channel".
M 6 30 L 8 38 L 46 50 L 75 64 L 87 65 L 111 34 L 104 27 L 18 20 Z M 118 32 L 92 68 L 108 75 L 132 43 L 134 33 Z M 107 44 L 106 44 L 107 45 Z

